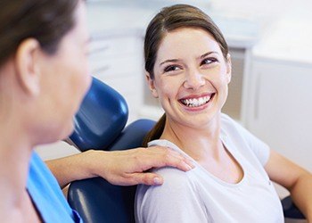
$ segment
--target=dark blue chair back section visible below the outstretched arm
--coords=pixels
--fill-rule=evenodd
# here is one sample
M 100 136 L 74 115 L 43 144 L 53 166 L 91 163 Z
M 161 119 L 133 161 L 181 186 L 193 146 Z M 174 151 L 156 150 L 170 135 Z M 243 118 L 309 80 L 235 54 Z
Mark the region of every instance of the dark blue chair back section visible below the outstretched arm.
M 68 200 L 84 222 L 133 223 L 136 186 L 113 186 L 103 178 L 70 185 Z

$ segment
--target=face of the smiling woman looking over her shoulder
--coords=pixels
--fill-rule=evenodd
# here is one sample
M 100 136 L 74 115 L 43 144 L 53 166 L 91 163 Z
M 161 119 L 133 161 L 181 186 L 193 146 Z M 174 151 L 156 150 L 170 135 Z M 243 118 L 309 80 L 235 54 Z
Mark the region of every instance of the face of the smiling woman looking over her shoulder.
M 220 113 L 231 79 L 227 61 L 217 41 L 203 29 L 168 32 L 160 43 L 154 78 L 147 75 L 168 120 L 204 127 Z

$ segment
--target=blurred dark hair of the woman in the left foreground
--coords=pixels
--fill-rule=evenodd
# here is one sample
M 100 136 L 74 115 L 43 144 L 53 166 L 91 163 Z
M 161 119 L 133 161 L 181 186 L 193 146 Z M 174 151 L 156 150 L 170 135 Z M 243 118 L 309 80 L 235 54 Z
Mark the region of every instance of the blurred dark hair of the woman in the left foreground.
M 36 38 L 47 54 L 54 54 L 62 37 L 74 26 L 79 0 L 1 0 L 0 66 L 23 40 Z

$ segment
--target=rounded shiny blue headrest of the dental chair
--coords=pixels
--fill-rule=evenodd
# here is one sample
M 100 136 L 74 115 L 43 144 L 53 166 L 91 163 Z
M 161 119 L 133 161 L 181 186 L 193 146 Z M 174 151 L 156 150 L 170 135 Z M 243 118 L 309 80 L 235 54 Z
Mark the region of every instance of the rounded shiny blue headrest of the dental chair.
M 80 151 L 105 150 L 125 127 L 127 115 L 127 103 L 123 96 L 93 78 L 74 118 L 75 128 L 70 140 Z

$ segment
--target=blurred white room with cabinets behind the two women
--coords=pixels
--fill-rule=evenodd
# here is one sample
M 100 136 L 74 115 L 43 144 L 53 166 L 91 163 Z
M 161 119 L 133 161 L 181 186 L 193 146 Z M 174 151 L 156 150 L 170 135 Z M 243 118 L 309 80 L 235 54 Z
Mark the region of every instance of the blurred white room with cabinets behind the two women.
M 230 46 L 233 80 L 223 112 L 312 171 L 310 0 L 87 1 L 91 74 L 125 96 L 128 122 L 163 112 L 145 85 L 144 30 L 160 8 L 177 3 L 207 12 Z M 45 160 L 78 153 L 62 142 L 37 151 Z

